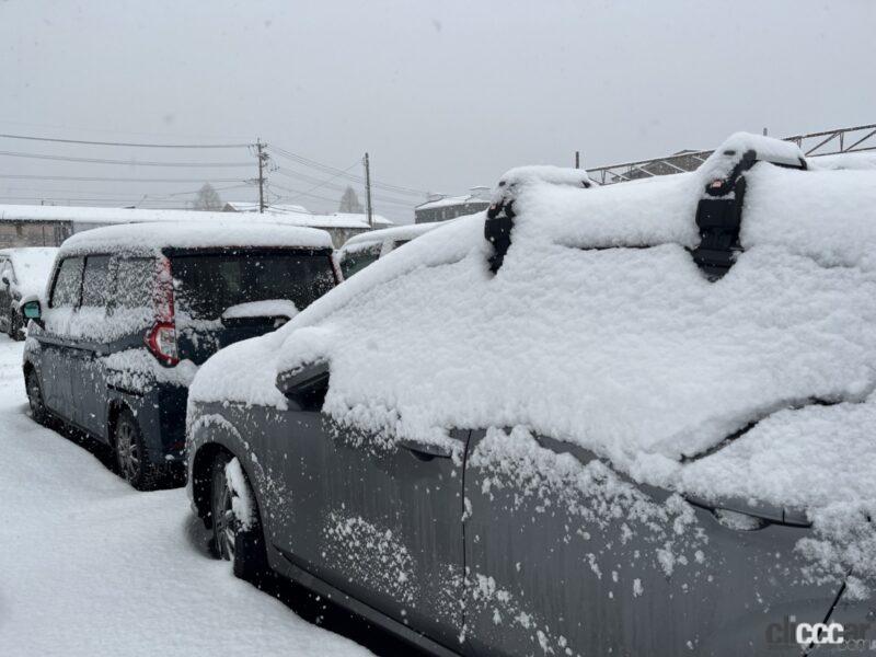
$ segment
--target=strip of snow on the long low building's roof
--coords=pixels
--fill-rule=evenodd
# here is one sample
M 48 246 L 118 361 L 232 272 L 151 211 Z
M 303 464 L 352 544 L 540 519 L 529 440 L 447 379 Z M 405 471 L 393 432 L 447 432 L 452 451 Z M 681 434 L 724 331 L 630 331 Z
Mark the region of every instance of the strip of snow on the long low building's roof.
M 270 208 L 262 214 L 270 216 L 272 221 L 304 226 L 311 228 L 354 228 L 368 229 L 366 215 L 313 215 L 307 211 L 281 209 L 285 206 Z M 300 207 L 300 206 L 288 206 Z M 94 208 L 83 206 L 36 206 L 36 205 L 0 205 L 0 222 L 2 221 L 74 221 L 77 223 L 139 223 L 143 221 L 252 221 L 251 212 L 207 212 L 200 210 L 141 209 L 141 208 Z M 374 226 L 392 226 L 392 221 L 373 215 Z

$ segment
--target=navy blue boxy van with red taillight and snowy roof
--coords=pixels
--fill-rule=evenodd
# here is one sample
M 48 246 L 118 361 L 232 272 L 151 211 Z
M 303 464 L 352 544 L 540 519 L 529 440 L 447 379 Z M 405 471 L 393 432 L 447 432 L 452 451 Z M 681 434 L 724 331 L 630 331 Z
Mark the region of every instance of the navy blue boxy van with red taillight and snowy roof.
M 182 473 L 188 383 L 219 348 L 275 330 L 337 284 L 321 230 L 252 222 L 140 223 L 60 247 L 32 320 L 33 417 L 108 443 L 137 488 Z

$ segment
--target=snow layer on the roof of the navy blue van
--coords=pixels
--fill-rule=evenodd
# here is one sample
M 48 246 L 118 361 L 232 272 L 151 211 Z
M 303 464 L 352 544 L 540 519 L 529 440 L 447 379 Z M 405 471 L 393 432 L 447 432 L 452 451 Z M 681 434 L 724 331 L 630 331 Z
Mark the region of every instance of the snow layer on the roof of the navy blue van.
M 77 233 L 61 244 L 61 255 L 97 251 L 154 251 L 210 246 L 299 246 L 331 249 L 325 231 L 268 220 L 185 221 L 107 226 Z

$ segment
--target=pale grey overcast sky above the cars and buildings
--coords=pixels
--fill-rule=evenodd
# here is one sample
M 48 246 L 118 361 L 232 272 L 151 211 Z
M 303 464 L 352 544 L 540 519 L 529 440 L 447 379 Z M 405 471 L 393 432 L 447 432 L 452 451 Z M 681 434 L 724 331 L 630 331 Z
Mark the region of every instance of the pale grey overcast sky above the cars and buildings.
M 876 122 L 876 2 L 701 0 L 0 1 L 0 132 L 270 145 L 413 189 L 464 193 L 532 163 L 586 165 Z M 0 139 L 0 150 L 251 162 L 159 168 L 0 155 L 0 198 L 137 201 L 255 172 L 246 149 L 175 151 Z M 273 155 L 293 203 L 336 209 L 343 177 Z M 310 178 L 310 180 L 309 180 Z M 224 199 L 252 187 L 216 183 Z M 240 184 L 240 183 L 238 183 Z M 285 187 L 286 189 L 283 189 Z M 296 191 L 289 192 L 289 189 Z M 410 221 L 417 198 L 381 191 Z M 191 195 L 171 197 L 174 201 Z M 169 199 L 170 200 L 170 199 Z M 399 203 L 401 201 L 401 203 Z M 36 200 L 38 203 L 38 200 Z M 408 204 L 408 205 L 405 205 Z

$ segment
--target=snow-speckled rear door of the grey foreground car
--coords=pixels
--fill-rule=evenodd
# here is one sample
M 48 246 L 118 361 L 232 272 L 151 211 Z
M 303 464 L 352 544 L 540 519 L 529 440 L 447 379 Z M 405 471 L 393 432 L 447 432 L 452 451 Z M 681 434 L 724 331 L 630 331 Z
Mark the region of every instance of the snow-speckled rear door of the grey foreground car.
M 469 446 L 476 655 L 799 655 L 771 643 L 771 624 L 820 622 L 840 588 L 799 577 L 806 528 L 723 525 L 521 427 L 472 431 Z

